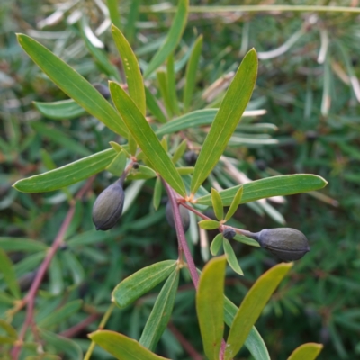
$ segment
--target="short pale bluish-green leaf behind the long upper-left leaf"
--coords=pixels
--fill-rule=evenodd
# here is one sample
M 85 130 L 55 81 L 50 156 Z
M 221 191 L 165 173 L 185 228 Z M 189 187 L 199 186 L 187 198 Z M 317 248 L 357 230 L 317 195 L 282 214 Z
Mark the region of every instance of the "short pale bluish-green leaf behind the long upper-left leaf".
M 87 113 L 73 99 L 62 100 L 54 103 L 32 103 L 42 115 L 54 120 L 75 119 L 86 115 Z

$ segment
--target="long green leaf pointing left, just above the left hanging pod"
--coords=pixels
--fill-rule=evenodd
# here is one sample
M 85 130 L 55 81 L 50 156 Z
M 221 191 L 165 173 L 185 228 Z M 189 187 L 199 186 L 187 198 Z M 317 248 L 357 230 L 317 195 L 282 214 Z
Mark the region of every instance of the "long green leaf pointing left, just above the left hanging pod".
M 58 190 L 100 173 L 112 162 L 115 155 L 116 151 L 113 148 L 108 148 L 45 174 L 19 180 L 13 186 L 23 193 L 43 193 Z

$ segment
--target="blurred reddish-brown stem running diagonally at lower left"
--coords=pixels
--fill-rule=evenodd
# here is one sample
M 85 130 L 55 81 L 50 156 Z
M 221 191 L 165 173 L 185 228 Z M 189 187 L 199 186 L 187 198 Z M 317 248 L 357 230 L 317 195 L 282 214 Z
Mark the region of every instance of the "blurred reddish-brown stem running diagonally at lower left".
M 26 317 L 25 317 L 25 321 L 23 323 L 23 328 L 20 331 L 19 338 L 16 341 L 16 344 L 12 350 L 13 360 L 18 359 L 18 357 L 20 355 L 20 351 L 23 346 L 23 339 L 25 338 L 26 330 L 29 328 L 29 326 L 33 325 L 33 311 L 34 311 L 34 306 L 35 306 L 36 293 L 38 293 L 42 279 L 49 268 L 52 258 L 55 256 L 56 252 L 58 251 L 58 247 L 63 242 L 64 236 L 67 232 L 67 229 L 71 223 L 71 220 L 74 217 L 76 200 L 79 200 L 84 196 L 84 194 L 89 190 L 89 188 L 93 184 L 93 181 L 94 181 L 94 176 L 90 177 L 87 180 L 86 184 L 76 194 L 75 201 L 71 202 L 70 208 L 67 211 L 67 216 L 66 216 L 65 220 L 63 221 L 63 223 L 61 224 L 60 229 L 58 230 L 58 235 L 54 239 L 54 242 L 52 243 L 51 247 L 49 248 L 48 254 L 42 261 L 42 263 L 39 267 L 39 270 L 36 274 L 36 277 L 35 277 L 33 283 L 31 284 L 29 293 L 27 293 L 27 295 L 23 299 L 23 305 L 27 304 Z

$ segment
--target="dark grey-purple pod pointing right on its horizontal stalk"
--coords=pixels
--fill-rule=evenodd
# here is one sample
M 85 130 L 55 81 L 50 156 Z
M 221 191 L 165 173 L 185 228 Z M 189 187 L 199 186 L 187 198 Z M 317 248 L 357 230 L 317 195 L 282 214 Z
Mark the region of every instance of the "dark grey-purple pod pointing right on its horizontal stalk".
M 308 239 L 297 229 L 263 229 L 256 235 L 260 246 L 281 260 L 299 260 L 310 251 Z

